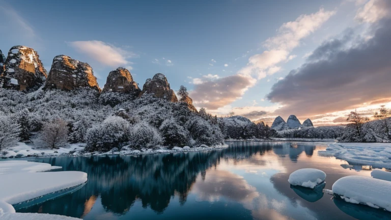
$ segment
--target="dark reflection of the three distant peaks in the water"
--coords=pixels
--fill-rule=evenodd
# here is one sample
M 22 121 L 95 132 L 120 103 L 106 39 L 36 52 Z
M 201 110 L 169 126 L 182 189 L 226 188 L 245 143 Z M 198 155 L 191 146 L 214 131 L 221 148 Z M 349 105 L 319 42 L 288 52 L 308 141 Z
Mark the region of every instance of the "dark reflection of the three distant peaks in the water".
M 289 155 L 292 162 L 297 162 L 297 158 L 304 151 L 305 155 L 311 157 L 314 154 L 316 146 L 305 143 L 278 143 L 273 145 L 273 152 L 276 155 L 285 157 Z

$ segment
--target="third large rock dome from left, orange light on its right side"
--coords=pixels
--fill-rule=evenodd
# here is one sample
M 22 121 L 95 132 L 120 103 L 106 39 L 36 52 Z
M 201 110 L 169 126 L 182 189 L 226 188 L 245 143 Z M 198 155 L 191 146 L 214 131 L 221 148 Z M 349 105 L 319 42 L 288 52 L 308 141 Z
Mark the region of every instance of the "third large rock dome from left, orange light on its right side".
M 108 74 L 102 92 L 122 92 L 138 95 L 141 90 L 133 80 L 129 70 L 119 67 Z

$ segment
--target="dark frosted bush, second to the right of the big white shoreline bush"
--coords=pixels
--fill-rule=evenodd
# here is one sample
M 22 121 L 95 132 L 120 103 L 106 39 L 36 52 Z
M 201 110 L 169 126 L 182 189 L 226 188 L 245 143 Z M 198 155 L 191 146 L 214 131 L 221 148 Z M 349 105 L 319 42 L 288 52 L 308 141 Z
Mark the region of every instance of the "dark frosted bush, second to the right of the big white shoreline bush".
M 178 125 L 174 118 L 166 119 L 160 126 L 159 131 L 163 137 L 164 146 L 185 146 L 188 142 L 189 132 Z

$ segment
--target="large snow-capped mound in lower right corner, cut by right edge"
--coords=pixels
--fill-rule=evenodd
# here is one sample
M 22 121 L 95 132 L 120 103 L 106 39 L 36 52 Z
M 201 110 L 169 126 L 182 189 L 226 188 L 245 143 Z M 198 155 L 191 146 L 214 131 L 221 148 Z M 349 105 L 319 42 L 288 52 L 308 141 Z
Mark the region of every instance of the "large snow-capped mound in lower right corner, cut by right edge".
M 391 182 L 370 177 L 347 176 L 332 185 L 334 194 L 355 204 L 391 211 Z

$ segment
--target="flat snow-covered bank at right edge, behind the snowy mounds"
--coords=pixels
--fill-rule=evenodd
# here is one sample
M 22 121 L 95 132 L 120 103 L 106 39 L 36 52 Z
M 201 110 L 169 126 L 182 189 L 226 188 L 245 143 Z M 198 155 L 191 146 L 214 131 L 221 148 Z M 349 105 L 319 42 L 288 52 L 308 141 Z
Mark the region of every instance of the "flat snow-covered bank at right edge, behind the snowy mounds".
M 320 156 L 334 156 L 352 164 L 391 168 L 391 143 L 338 143 L 329 144 Z

